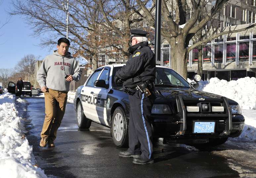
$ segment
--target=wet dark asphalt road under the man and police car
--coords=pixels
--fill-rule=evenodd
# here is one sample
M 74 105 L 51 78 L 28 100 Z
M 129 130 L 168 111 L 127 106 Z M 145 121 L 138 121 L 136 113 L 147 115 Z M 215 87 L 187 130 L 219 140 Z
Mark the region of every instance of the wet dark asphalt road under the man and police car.
M 78 130 L 73 104 L 68 103 L 55 147 L 39 147 L 44 121 L 44 98 L 24 97 L 26 104 L 16 102 L 19 116 L 24 118 L 29 144 L 39 167 L 46 175 L 56 177 L 256 177 L 256 166 L 242 166 L 228 159 L 227 150 L 242 150 L 237 144 L 224 144 L 210 150 L 162 144 L 154 146 L 154 164 L 135 165 L 132 158 L 120 158 L 112 142 L 110 129 L 92 123 L 89 130 Z M 242 150 L 251 154 L 249 148 Z M 219 156 L 216 152 L 224 153 Z M 234 153 L 231 153 L 234 154 Z M 242 159 L 243 160 L 243 159 Z M 255 158 L 256 160 L 256 158 Z M 235 166 L 234 166 L 235 165 Z M 242 171 L 237 171 L 237 167 Z

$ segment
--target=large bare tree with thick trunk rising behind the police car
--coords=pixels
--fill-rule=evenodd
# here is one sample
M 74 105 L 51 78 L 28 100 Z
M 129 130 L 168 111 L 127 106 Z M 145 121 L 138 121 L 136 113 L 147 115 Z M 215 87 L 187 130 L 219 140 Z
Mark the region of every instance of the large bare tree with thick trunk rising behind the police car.
M 208 21 L 215 18 L 229 0 L 162 0 L 162 36 L 168 41 L 171 47 L 171 66 L 183 77 L 187 78 L 187 57 L 189 52 L 214 38 L 228 33 L 247 30 L 256 26 L 251 24 L 243 29 L 223 30 L 215 33 L 208 38 L 197 41 L 188 47 L 190 40 L 201 30 Z M 154 2 L 154 1 L 153 1 Z M 145 19 L 147 23 L 154 27 L 154 15 L 149 11 L 148 0 L 137 0 L 143 9 L 143 13 L 137 14 Z M 152 6 L 155 6 L 154 3 Z M 175 10 L 175 14 L 171 9 Z M 171 12 L 170 12 L 171 11 Z M 201 20 L 198 20 L 201 18 Z M 229 27 L 228 27 L 229 28 Z

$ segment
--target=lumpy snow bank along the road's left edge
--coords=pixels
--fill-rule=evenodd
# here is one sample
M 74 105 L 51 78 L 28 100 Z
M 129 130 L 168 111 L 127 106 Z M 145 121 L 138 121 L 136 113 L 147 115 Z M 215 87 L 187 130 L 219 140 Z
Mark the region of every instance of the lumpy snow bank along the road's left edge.
M 36 165 L 32 147 L 21 130 L 21 117 L 14 104 L 15 98 L 10 93 L 0 96 L 0 172 L 1 177 L 47 176 Z M 21 98 L 18 102 L 26 102 Z

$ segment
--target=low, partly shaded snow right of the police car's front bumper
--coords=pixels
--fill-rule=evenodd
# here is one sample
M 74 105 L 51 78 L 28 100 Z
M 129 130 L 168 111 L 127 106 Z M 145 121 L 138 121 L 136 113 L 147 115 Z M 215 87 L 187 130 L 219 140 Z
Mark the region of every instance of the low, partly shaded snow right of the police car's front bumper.
M 230 138 L 231 140 L 251 140 L 256 141 L 256 110 L 242 110 L 242 115 L 245 119 L 243 132 L 237 138 Z

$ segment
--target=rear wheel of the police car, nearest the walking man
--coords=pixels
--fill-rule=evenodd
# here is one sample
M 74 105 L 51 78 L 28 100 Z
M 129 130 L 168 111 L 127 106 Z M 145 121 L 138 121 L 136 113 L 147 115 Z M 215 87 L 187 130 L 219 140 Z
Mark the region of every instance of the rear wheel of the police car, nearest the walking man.
M 92 123 L 91 120 L 85 117 L 83 107 L 80 101 L 77 103 L 76 121 L 77 121 L 77 126 L 79 128 L 90 128 Z

